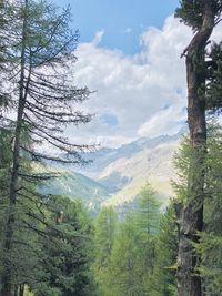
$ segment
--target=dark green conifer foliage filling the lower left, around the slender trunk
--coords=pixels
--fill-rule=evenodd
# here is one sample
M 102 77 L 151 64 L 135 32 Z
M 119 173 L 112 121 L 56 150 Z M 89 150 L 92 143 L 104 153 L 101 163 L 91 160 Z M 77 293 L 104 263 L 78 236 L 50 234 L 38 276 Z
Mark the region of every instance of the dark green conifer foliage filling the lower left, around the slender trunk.
M 9 207 L 7 196 L 13 133 L 8 130 L 0 132 L 2 238 Z M 22 170 L 28 172 L 30 160 L 26 156 L 22 156 L 21 164 Z M 6 266 L 13 265 L 13 285 L 26 283 L 34 295 L 93 295 L 93 227 L 88 212 L 80 202 L 71 202 L 62 196 L 39 195 L 34 184 L 20 181 L 20 186 L 10 253 L 4 252 L 3 239 L 0 241 L 0 278 Z

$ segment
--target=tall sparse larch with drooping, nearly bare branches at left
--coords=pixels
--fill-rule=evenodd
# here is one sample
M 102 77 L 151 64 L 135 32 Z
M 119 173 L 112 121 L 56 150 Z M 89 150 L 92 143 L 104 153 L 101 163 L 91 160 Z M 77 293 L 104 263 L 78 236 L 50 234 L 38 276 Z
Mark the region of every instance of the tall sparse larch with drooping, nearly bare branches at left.
M 26 171 L 21 155 L 29 155 L 33 161 L 82 163 L 79 152 L 88 146 L 70 143 L 62 133 L 68 124 L 87 123 L 91 115 L 74 109 L 77 103 L 88 99 L 89 91 L 73 86 L 69 79 L 69 65 L 75 61 L 73 50 L 78 40 L 78 32 L 70 30 L 70 9 L 59 11 L 48 1 L 4 1 L 1 16 L 6 19 L 6 25 L 0 28 L 0 39 L 3 40 L 1 126 L 13 131 L 3 235 L 3 252 L 9 256 L 4 256 L 1 295 L 12 296 L 13 263 L 10 254 L 14 247 L 17 202 L 24 198 L 24 192 L 30 196 L 36 194 L 23 185 L 24 181 L 37 184 L 51 177 L 51 174 Z M 22 142 L 24 133 L 29 144 Z M 62 151 L 63 156 L 41 153 L 36 149 L 38 144 L 48 145 L 47 151 Z

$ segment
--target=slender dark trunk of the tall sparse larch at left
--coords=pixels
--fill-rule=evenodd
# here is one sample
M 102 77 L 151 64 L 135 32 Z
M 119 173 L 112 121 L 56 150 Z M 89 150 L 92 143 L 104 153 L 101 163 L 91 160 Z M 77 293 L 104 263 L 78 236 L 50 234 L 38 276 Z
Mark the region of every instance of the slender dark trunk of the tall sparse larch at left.
M 22 133 L 22 120 L 24 110 L 24 63 L 26 63 L 26 32 L 27 32 L 27 18 L 26 10 L 28 0 L 24 2 L 23 8 L 23 28 L 22 28 L 22 49 L 21 49 L 21 61 L 20 61 L 20 81 L 19 81 L 19 106 L 17 114 L 17 125 L 14 134 L 13 156 L 12 156 L 12 171 L 11 181 L 9 187 L 9 210 L 4 231 L 4 263 L 2 276 L 2 288 L 1 296 L 13 296 L 14 283 L 13 283 L 13 265 L 11 264 L 11 253 L 13 247 L 13 226 L 16 222 L 16 204 L 18 194 L 18 180 L 19 180 L 19 154 L 20 154 L 20 140 Z

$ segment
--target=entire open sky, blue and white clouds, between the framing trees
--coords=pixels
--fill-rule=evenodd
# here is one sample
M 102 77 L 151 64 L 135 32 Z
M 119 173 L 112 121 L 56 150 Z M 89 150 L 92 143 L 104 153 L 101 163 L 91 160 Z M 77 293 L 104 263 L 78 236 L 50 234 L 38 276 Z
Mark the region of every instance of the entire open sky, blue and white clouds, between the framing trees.
M 73 28 L 81 33 L 73 83 L 95 91 L 79 106 L 94 113 L 93 120 L 67 129 L 73 142 L 117 147 L 184 126 L 186 82 L 180 55 L 192 32 L 173 17 L 178 2 L 71 1 Z M 212 39 L 222 39 L 221 24 Z

